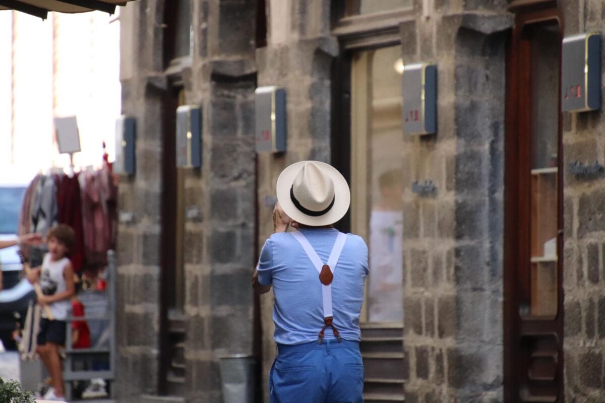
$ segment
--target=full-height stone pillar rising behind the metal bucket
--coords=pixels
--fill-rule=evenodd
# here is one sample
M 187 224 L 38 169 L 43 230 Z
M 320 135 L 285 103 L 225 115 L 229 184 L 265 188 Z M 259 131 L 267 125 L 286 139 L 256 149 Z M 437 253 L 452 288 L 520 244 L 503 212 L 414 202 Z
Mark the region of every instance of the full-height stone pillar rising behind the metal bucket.
M 253 353 L 255 2 L 194 2 L 187 102 L 203 110 L 203 166 L 189 172 L 185 225 L 186 389 L 221 402 L 220 356 Z

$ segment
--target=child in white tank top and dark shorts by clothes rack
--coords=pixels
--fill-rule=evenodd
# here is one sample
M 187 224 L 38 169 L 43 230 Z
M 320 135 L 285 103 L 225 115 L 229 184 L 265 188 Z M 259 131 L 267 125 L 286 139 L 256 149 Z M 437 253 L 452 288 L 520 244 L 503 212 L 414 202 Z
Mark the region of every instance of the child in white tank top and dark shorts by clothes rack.
M 68 225 L 57 225 L 48 231 L 47 241 L 48 253 L 42 266 L 31 270 L 29 280 L 40 283 L 44 295 L 38 297 L 38 304 L 50 308 L 50 314 L 42 311 L 36 352 L 44 361 L 53 385 L 44 399 L 56 400 L 64 396 L 59 347 L 65 344 L 65 319 L 75 293 L 73 267 L 66 256 L 73 245 L 74 231 Z

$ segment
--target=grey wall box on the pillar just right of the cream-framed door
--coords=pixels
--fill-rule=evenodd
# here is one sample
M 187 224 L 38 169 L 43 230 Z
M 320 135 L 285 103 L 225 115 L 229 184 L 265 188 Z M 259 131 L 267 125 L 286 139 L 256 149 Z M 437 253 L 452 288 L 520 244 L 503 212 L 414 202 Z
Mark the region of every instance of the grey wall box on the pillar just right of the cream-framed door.
M 437 132 L 437 65 L 404 66 L 402 78 L 404 134 Z

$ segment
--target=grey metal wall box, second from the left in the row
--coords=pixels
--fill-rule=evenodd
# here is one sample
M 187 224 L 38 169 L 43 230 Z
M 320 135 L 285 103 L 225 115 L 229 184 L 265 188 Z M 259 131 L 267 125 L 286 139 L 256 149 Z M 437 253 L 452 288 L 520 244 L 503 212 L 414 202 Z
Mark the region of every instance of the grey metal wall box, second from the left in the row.
M 201 167 L 201 108 L 177 108 L 177 167 Z

